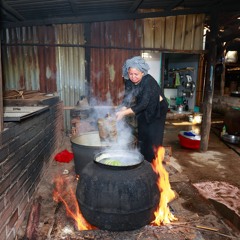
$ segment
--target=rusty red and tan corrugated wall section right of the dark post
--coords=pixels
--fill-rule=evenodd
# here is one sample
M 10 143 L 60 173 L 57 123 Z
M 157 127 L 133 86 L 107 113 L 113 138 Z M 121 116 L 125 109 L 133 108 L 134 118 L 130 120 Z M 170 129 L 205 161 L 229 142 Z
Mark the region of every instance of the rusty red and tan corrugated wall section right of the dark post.
M 204 15 L 100 22 L 91 25 L 91 95 L 96 102 L 121 102 L 122 64 L 147 51 L 203 50 Z

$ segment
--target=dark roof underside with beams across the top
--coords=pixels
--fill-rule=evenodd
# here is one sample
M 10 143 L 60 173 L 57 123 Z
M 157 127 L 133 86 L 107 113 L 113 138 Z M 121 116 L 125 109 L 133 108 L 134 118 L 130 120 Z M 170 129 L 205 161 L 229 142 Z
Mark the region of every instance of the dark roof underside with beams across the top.
M 1 0 L 0 11 L 3 28 L 216 12 L 223 41 L 240 36 L 240 2 L 235 0 Z

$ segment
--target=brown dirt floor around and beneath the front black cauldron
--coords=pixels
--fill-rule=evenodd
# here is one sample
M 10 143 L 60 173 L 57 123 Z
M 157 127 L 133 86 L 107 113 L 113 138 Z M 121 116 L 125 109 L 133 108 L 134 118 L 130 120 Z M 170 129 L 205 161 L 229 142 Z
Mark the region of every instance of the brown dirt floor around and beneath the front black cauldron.
M 66 214 L 64 204 L 53 200 L 54 179 L 57 176 L 64 180 L 63 186 L 69 193 L 67 198 L 70 198 L 71 191 L 76 191 L 78 180 L 74 161 L 59 163 L 51 159 L 34 197 L 39 203 L 37 206 L 40 206 L 35 239 L 240 239 L 239 146 L 221 141 L 222 122 L 216 120 L 212 124 L 207 152 L 182 148 L 178 140 L 179 131 L 193 128 L 197 132 L 200 126 L 173 120 L 168 121 L 165 128 L 164 146 L 170 147 L 172 152 L 165 168 L 176 193 L 175 200 L 169 206 L 178 220 L 164 226 L 147 225 L 126 232 L 98 229 L 79 231 L 72 217 Z M 64 149 L 71 151 L 68 136 L 64 137 L 59 152 Z M 26 238 L 30 211 L 20 227 L 17 239 Z

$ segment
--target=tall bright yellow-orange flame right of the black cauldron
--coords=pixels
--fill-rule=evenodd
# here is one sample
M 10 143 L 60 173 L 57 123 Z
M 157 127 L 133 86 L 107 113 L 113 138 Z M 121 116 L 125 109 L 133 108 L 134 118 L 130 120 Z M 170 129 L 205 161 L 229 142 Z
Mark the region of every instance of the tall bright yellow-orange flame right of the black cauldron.
M 152 221 L 152 224 L 157 226 L 177 220 L 177 218 L 171 213 L 168 206 L 168 203 L 175 198 L 175 193 L 171 189 L 168 172 L 165 170 L 162 164 L 164 160 L 164 154 L 164 147 L 159 147 L 157 149 L 157 156 L 152 162 L 152 168 L 158 175 L 157 185 L 160 191 L 159 205 L 157 210 L 154 212 L 155 220 Z

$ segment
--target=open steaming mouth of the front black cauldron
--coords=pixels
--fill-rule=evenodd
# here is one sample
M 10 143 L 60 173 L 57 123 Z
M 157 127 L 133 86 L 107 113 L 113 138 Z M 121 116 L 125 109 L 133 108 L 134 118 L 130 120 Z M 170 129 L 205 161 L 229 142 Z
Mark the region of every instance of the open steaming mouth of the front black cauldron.
M 103 166 L 126 168 L 141 164 L 144 157 L 137 150 L 105 150 L 97 153 L 94 161 Z

